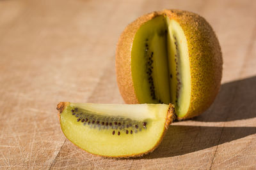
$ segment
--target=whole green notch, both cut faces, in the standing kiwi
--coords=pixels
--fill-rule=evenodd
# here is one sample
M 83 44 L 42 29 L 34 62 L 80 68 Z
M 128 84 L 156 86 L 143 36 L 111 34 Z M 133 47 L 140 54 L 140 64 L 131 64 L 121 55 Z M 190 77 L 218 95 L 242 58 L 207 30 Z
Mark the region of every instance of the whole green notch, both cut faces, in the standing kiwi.
M 191 86 L 188 44 L 175 20 L 164 15 L 141 25 L 134 36 L 131 71 L 139 103 L 173 103 L 187 113 Z

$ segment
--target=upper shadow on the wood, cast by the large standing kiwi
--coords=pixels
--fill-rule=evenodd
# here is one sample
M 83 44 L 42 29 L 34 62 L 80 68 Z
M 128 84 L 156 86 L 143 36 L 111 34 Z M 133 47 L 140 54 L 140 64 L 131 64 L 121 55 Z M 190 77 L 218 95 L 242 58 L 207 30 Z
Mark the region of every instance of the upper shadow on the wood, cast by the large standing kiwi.
M 221 85 L 211 108 L 199 117 L 199 122 L 226 122 L 256 117 L 256 76 Z

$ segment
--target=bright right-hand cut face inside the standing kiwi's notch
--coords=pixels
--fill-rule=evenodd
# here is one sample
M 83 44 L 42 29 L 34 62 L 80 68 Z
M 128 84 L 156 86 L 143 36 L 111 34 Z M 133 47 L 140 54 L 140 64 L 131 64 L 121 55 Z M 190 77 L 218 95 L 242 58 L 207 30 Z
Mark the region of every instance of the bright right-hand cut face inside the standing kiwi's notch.
M 177 115 L 184 117 L 188 113 L 191 97 L 188 43 L 180 25 L 168 17 L 166 21 L 168 23 L 170 103 L 175 104 Z

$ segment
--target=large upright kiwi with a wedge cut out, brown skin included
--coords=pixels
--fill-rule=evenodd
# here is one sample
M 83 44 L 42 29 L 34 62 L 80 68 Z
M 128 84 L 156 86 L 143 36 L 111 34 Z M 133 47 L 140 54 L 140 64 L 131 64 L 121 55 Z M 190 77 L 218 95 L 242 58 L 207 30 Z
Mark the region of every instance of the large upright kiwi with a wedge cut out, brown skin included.
M 220 89 L 222 64 L 211 25 L 189 11 L 143 15 L 125 28 L 116 47 L 125 103 L 172 103 L 179 120 L 209 108 Z

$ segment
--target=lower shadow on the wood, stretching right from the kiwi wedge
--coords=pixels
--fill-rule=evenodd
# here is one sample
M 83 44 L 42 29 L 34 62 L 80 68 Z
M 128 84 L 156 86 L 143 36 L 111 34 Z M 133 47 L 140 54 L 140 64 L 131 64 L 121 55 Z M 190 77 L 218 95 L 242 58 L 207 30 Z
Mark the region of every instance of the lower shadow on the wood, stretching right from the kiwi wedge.
M 256 133 L 256 127 L 170 126 L 161 145 L 142 159 L 173 157 L 204 150 Z M 223 138 L 220 138 L 223 137 Z

